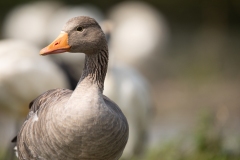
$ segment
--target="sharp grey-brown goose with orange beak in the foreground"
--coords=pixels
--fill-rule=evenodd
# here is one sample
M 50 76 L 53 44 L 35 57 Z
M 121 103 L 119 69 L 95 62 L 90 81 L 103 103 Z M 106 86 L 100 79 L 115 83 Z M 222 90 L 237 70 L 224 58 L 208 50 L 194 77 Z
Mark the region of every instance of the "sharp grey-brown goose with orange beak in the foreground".
M 59 37 L 40 51 L 85 53 L 83 73 L 74 91 L 49 90 L 35 100 L 18 135 L 17 155 L 24 159 L 117 160 L 128 140 L 128 122 L 103 95 L 108 47 L 99 24 L 90 17 L 70 19 Z

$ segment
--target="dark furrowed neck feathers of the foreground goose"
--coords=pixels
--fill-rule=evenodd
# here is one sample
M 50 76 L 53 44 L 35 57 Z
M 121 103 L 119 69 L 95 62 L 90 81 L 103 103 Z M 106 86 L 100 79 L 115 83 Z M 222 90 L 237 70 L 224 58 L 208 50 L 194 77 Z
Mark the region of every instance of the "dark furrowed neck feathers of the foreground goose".
M 108 67 L 108 48 L 104 47 L 97 54 L 85 56 L 85 64 L 80 82 L 88 78 L 91 83 L 97 84 L 103 92 L 104 80 Z

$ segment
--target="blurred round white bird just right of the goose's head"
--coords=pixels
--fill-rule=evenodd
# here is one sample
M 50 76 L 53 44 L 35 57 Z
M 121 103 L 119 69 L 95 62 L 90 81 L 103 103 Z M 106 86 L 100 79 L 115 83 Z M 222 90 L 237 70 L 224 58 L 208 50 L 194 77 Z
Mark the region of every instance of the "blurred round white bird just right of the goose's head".
M 163 52 L 169 36 L 167 24 L 150 5 L 122 2 L 111 8 L 108 18 L 114 24 L 111 51 L 118 62 L 139 69 L 149 65 L 149 58 Z

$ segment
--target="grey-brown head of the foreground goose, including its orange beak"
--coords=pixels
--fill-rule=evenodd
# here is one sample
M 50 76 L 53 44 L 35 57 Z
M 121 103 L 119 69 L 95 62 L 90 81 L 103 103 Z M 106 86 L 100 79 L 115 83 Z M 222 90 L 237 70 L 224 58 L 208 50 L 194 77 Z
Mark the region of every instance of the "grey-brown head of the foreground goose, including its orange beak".
M 99 24 L 90 17 L 75 17 L 63 27 L 60 35 L 40 51 L 41 55 L 63 52 L 96 54 L 107 45 L 105 35 Z

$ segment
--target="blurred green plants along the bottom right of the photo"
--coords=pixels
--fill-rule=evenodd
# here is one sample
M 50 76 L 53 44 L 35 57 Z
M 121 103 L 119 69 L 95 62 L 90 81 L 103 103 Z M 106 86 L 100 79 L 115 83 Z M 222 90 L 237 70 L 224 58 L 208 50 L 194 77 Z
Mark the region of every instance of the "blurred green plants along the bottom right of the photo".
M 209 113 L 202 114 L 190 136 L 171 140 L 149 149 L 142 158 L 130 160 L 239 160 L 240 155 L 223 149 L 223 136 L 215 127 L 213 117 Z M 189 139 L 191 143 L 186 145 Z

